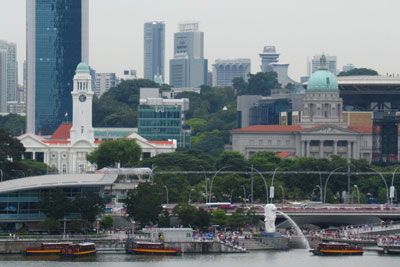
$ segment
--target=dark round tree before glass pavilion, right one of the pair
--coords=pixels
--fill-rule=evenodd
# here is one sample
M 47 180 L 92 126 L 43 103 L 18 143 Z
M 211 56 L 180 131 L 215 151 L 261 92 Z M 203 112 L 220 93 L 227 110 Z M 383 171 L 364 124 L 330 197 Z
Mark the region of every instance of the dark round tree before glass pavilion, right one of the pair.
M 74 212 L 79 213 L 82 219 L 90 223 L 94 223 L 96 217 L 105 209 L 104 199 L 93 191 L 85 191 L 81 196 L 75 197 L 72 204 Z

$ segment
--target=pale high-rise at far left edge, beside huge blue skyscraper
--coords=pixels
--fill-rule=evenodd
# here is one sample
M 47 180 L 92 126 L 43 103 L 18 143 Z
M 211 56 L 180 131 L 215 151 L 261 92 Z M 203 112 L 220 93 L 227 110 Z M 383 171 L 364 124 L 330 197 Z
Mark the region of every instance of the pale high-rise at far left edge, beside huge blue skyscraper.
M 6 101 L 16 101 L 18 95 L 17 45 L 0 40 L 0 49 L 6 51 Z

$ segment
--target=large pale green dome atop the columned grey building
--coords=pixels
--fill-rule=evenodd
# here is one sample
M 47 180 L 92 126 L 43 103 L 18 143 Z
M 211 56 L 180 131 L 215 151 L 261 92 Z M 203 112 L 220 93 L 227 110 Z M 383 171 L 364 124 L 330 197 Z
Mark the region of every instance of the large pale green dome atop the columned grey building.
M 307 91 L 338 91 L 335 75 L 328 70 L 320 69 L 308 80 Z

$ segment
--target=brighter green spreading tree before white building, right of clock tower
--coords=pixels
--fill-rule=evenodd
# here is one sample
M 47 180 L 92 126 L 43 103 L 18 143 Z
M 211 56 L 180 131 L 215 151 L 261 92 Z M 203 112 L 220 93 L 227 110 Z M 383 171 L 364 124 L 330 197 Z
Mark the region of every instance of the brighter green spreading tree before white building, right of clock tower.
M 87 155 L 87 160 L 97 165 L 99 169 L 118 163 L 121 167 L 133 167 L 139 162 L 142 149 L 135 139 L 121 138 L 106 140 L 93 152 Z

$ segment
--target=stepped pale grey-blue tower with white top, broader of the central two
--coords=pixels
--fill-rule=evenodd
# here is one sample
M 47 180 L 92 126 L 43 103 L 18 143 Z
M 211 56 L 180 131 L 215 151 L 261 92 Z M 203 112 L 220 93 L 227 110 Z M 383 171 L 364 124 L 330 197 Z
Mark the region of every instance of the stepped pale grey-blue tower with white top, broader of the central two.
M 198 23 L 179 25 L 174 34 L 174 58 L 169 62 L 172 87 L 199 87 L 207 84 L 208 61 L 204 58 L 204 33 Z

